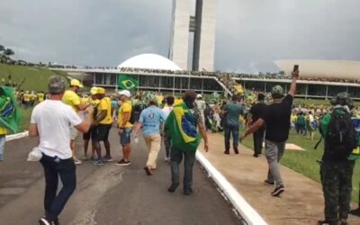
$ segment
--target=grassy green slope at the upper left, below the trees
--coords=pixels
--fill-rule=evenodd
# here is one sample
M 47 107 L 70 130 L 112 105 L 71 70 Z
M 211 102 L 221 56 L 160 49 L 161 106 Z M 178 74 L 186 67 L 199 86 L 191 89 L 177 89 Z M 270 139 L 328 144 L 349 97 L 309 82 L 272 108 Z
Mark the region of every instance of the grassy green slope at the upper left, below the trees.
M 54 74 L 67 76 L 65 72 L 53 71 L 45 67 L 24 67 L 0 64 L 0 82 L 2 82 L 3 78 L 5 82 L 7 82 L 9 75 L 11 75 L 12 82 L 16 84 L 19 84 L 23 78 L 25 78 L 25 82 L 21 87 L 23 90 L 46 91 L 49 77 Z

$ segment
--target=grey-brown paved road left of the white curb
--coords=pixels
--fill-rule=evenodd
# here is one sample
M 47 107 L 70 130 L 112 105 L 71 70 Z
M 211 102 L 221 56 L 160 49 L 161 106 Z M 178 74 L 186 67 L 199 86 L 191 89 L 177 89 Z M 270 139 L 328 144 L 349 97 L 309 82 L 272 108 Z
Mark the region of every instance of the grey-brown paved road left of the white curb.
M 119 159 L 115 131 L 110 137 L 112 157 Z M 6 143 L 5 161 L 0 164 L 1 224 L 37 224 L 43 214 L 42 167 L 25 161 L 36 143 L 29 138 Z M 144 146 L 142 141 L 133 144 L 128 167 L 90 162 L 77 166 L 76 192 L 60 215 L 61 224 L 241 224 L 198 164 L 194 166 L 193 195 L 184 196 L 181 188 L 167 193 L 170 170 L 162 160 L 163 152 L 156 173 L 147 176 Z

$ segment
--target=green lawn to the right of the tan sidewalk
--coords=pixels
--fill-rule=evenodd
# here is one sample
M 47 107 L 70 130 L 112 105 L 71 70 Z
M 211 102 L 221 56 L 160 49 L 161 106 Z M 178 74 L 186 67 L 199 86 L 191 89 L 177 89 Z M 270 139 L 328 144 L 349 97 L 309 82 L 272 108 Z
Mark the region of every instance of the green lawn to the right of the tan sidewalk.
M 245 131 L 241 130 L 241 134 Z M 286 150 L 284 157 L 281 161 L 281 164 L 287 166 L 294 171 L 301 173 L 310 177 L 312 180 L 320 182 L 320 165 L 316 162 L 317 159 L 320 159 L 323 153 L 323 142 L 321 142 L 318 149 L 314 149 L 315 144 L 320 139 L 319 132 L 315 133 L 314 140 L 308 139 L 302 135 L 296 134 L 294 130 L 291 130 L 290 137 L 287 140 L 287 143 L 293 143 L 298 145 L 306 151 L 293 151 Z M 247 148 L 253 148 L 253 139 L 248 137 L 242 142 Z M 264 149 L 263 149 L 264 152 Z M 360 181 L 360 166 L 359 163 L 356 163 L 354 168 L 353 175 L 353 202 L 358 202 L 359 194 L 359 181 Z

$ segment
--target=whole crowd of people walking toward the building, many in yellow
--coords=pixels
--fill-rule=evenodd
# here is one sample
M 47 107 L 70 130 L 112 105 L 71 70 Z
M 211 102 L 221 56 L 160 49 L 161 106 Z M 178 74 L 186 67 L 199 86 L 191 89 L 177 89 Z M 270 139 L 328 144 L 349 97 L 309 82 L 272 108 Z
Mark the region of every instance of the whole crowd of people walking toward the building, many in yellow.
M 58 224 L 58 215 L 76 189 L 76 165 L 84 163 L 77 157 L 79 154 L 76 152 L 79 132 L 83 133 L 84 160 L 91 161 L 95 166 L 103 166 L 114 161 L 111 147 L 118 146 L 109 141 L 109 133 L 113 126 L 116 126 L 120 137 L 122 151 L 122 157 L 114 163 L 115 166 L 131 165 L 131 141 L 138 142 L 142 130 L 148 149 L 148 159 L 144 162 L 146 175 L 156 173 L 157 157 L 164 144 L 165 160 L 171 168 L 168 192 L 174 193 L 180 184 L 179 164 L 184 158 L 185 195 L 193 193 L 194 156 L 201 138 L 204 140 L 204 149 L 209 150 L 207 130 L 224 131 L 225 155 L 230 154 L 231 147 L 235 154 L 239 154 L 238 140 L 242 141 L 253 134 L 254 157 L 259 157 L 265 140 L 269 166 L 265 184 L 274 186 L 271 192 L 273 196 L 279 196 L 285 191 L 279 162 L 284 155 L 289 130 L 294 129 L 299 135 L 309 135 L 311 139 L 315 130 L 320 130 L 326 143 L 324 156 L 320 161 L 325 220 L 320 221 L 320 224 L 332 225 L 338 224 L 338 221 L 347 224 L 356 154 L 351 152 L 355 148 L 354 143 L 347 145 L 347 142 L 341 142 L 342 140 L 336 141 L 338 137 L 335 128 L 347 122 L 347 115 L 352 113 L 356 116 L 357 112 L 354 111 L 354 104 L 348 94 L 339 94 L 333 100 L 332 104 L 337 113 L 332 109 L 304 109 L 301 106 L 293 106 L 298 76 L 298 71 L 293 72 L 292 84 L 287 95 L 284 94 L 281 85 L 275 85 L 271 93 L 234 92 L 230 100 L 217 93 L 203 98 L 202 94 L 193 91 L 186 91 L 182 97 L 171 94 L 163 96 L 152 92 L 137 92 L 132 95 L 128 90 L 106 94 L 103 87 L 96 86 L 91 88 L 89 94 L 80 94 L 83 85 L 78 80 L 72 79 L 67 88 L 67 82 L 61 76 L 50 77 L 47 94 L 17 92 L 16 98 L 24 107 L 39 102 L 31 114 L 29 135 L 40 138 L 40 163 L 46 180 L 45 216 L 40 218 L 40 224 Z M 219 78 L 226 85 L 234 85 L 230 76 Z M 338 125 L 334 125 L 331 118 L 336 118 Z M 241 125 L 247 127 L 243 135 L 239 133 Z M 57 137 L 50 135 L 54 127 L 58 128 Z M 0 137 L 1 131 L 0 129 Z M 348 142 L 356 139 L 356 146 L 360 146 L 359 135 L 353 137 L 354 133 L 351 131 L 350 127 L 340 130 Z M 332 139 L 329 138 L 329 133 L 333 135 Z M 329 141 L 332 141 L 331 145 Z M 88 152 L 90 145 L 91 153 Z M 338 149 L 343 149 L 348 154 L 344 154 L 345 157 L 335 154 Z M 3 156 L 0 154 L 0 157 Z M 59 193 L 58 177 L 63 184 Z M 337 183 L 335 179 L 342 179 L 344 182 Z M 342 191 L 336 191 L 339 189 Z M 360 207 L 358 211 L 360 212 Z

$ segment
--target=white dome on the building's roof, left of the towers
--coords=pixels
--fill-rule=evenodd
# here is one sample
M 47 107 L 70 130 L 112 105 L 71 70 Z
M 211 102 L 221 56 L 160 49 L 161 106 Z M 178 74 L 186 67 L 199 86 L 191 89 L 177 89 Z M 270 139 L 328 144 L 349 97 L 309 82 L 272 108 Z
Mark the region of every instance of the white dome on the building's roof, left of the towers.
M 140 54 L 134 56 L 122 62 L 118 66 L 118 69 L 121 69 L 121 67 L 166 69 L 173 71 L 182 70 L 173 61 L 157 54 Z

